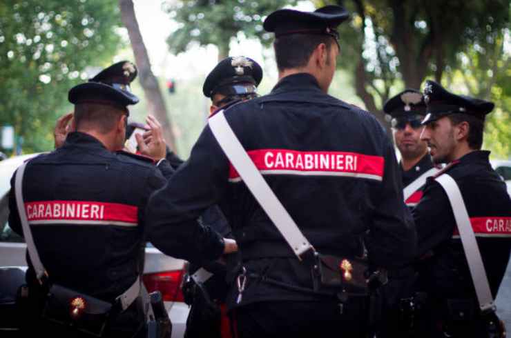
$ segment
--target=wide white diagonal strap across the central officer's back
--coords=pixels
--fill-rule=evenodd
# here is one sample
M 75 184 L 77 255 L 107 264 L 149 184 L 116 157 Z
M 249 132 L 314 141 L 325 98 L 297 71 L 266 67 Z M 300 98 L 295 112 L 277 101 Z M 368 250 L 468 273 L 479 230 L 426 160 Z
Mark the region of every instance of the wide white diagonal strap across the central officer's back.
M 224 110 L 220 110 L 213 117 L 209 118 L 209 128 L 211 128 L 213 136 L 220 143 L 220 147 L 224 150 L 229 161 L 238 171 L 244 183 L 247 184 L 253 197 L 259 202 L 261 208 L 267 213 L 287 243 L 289 243 L 298 259 L 300 259 L 300 255 L 309 249 L 314 250 L 311 243 L 305 238 L 298 226 L 296 226 L 296 223 L 291 219 L 291 216 L 289 216 L 287 210 L 268 186 L 268 183 L 264 181 L 259 170 L 255 168 L 255 164 L 244 150 L 229 123 L 227 123 Z

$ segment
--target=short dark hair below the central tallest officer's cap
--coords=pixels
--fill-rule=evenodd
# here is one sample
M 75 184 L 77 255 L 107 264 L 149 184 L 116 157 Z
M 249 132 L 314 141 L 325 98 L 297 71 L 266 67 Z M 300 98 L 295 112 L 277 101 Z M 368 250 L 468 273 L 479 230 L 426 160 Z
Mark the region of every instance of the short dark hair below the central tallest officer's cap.
M 287 34 L 278 37 L 273 41 L 278 70 L 282 72 L 307 66 L 312 52 L 320 43 L 325 43 L 330 51 L 335 42 L 333 37 L 326 34 Z

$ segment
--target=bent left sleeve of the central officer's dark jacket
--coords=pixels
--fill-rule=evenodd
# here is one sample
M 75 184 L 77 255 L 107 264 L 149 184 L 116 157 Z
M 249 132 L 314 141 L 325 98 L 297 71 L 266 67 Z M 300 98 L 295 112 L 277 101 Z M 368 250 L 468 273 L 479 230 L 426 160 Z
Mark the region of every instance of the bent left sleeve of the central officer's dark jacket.
M 229 162 L 206 126 L 189 160 L 149 200 L 146 215 L 154 246 L 195 264 L 218 259 L 222 236 L 197 219 L 224 195 L 228 175 Z

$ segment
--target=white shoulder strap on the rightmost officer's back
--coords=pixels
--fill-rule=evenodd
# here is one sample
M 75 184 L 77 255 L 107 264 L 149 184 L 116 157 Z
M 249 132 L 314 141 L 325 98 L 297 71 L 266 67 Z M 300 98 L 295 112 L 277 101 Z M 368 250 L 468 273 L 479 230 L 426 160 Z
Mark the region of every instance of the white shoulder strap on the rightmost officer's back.
M 495 310 L 492 292 L 488 284 L 488 277 L 486 276 L 483 259 L 481 258 L 481 252 L 479 252 L 474 229 L 472 229 L 472 224 L 470 223 L 467 208 L 465 207 L 465 202 L 463 201 L 463 196 L 461 196 L 459 187 L 456 181 L 447 174 L 436 177 L 436 181 L 440 183 L 445 190 L 451 203 L 461 243 L 463 244 L 463 250 L 465 251 L 465 257 L 467 257 L 470 275 L 472 275 L 472 282 L 476 289 L 479 307 L 482 311 Z

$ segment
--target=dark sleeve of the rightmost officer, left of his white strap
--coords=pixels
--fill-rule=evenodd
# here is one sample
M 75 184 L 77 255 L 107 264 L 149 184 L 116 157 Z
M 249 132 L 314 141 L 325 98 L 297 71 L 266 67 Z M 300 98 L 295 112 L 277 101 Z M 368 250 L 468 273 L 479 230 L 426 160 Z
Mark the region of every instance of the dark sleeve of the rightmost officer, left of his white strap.
M 412 210 L 417 227 L 417 257 L 433 250 L 454 231 L 454 214 L 443 188 L 434 179 L 428 179 L 421 203 Z

